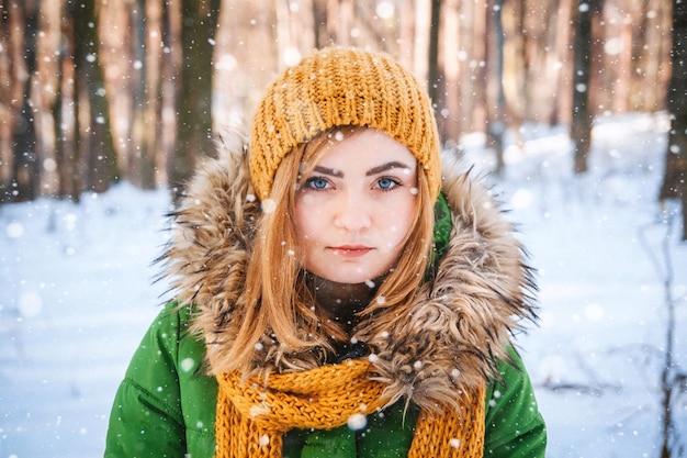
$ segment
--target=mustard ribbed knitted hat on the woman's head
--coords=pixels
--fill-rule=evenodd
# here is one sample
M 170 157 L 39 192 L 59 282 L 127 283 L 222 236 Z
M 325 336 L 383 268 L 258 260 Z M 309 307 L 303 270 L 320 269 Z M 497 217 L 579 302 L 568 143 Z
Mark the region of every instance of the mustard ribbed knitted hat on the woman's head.
M 293 147 L 344 125 L 373 127 L 407 146 L 438 196 L 439 133 L 416 78 L 386 54 L 328 47 L 282 72 L 258 105 L 249 147 L 258 198 L 269 197 L 279 164 Z

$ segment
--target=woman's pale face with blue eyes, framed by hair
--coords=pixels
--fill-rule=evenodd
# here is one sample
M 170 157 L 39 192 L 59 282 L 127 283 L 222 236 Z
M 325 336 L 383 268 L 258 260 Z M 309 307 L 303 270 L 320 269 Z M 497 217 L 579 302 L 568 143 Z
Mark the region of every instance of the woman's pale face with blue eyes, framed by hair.
M 295 198 L 304 267 L 330 281 L 362 283 L 401 255 L 417 204 L 417 161 L 372 129 L 337 133 Z

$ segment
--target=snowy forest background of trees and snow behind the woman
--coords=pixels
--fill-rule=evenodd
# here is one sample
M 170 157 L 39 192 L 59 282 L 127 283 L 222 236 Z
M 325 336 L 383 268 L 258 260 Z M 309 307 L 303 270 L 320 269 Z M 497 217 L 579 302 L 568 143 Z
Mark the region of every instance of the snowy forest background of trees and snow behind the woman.
M 540 276 L 550 457 L 687 456 L 684 0 L 0 0 L 0 458 L 102 455 L 165 214 L 313 48 L 390 53 Z

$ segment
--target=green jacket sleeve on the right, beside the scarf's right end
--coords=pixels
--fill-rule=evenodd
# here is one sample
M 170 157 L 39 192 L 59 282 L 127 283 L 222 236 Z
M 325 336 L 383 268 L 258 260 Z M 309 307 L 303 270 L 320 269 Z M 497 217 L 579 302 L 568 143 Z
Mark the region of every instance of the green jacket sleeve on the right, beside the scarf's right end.
M 544 457 L 547 428 L 537 406 L 522 359 L 509 348 L 511 362 L 500 364 L 502 380 L 486 395 L 484 456 L 491 458 Z

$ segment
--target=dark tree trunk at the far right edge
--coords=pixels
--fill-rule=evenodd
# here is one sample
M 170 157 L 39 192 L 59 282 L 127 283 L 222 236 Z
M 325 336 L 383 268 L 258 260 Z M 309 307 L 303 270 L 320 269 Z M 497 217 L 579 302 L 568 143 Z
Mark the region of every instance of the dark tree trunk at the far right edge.
M 673 70 L 667 92 L 671 131 L 658 199 L 662 203 L 666 199 L 682 200 L 682 239 L 687 241 L 687 3 L 680 0 L 673 0 L 671 60 Z

